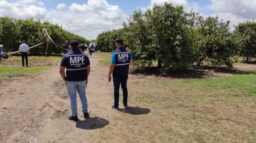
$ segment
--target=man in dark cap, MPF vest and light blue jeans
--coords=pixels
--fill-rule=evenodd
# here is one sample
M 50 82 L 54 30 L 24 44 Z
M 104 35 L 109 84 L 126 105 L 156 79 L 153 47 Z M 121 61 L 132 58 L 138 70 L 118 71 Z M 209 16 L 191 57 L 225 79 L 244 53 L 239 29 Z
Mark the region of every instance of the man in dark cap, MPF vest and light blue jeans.
M 89 117 L 86 99 L 86 84 L 90 73 L 90 61 L 88 56 L 82 52 L 76 40 L 70 41 L 71 51 L 62 57 L 60 63 L 60 75 L 67 84 L 68 95 L 71 104 L 72 115 L 69 120 L 77 121 L 77 92 L 82 103 L 84 119 Z M 66 75 L 65 75 L 66 68 Z

